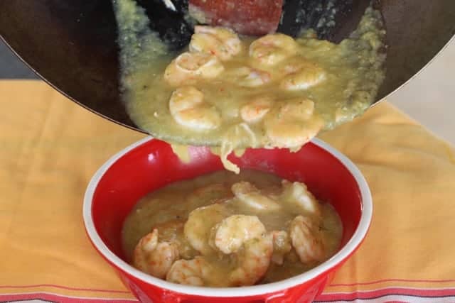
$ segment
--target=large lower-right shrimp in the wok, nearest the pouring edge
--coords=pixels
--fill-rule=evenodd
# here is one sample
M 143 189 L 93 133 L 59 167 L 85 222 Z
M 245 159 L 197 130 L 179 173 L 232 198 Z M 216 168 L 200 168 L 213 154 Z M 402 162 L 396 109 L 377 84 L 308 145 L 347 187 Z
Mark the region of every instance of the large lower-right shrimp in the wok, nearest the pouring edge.
M 309 99 L 291 99 L 264 119 L 270 145 L 279 148 L 300 148 L 323 127 L 323 120 L 314 115 L 314 103 Z

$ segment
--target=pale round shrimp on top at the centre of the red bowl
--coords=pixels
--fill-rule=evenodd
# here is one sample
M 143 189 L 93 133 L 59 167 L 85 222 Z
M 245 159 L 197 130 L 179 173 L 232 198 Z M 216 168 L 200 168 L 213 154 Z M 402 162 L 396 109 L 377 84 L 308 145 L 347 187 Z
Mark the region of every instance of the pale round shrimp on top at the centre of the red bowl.
M 233 215 L 214 227 L 213 242 L 225 254 L 236 253 L 246 241 L 264 235 L 264 224 L 257 216 Z

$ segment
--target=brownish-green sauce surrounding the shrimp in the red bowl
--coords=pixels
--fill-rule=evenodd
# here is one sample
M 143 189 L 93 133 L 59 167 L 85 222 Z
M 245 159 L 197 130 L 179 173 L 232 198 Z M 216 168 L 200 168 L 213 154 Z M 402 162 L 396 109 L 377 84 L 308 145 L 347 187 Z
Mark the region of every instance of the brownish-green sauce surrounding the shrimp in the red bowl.
M 232 172 L 220 171 L 209 175 L 203 175 L 193 180 L 175 182 L 163 187 L 155 192 L 151 192 L 141 199 L 124 221 L 122 229 L 122 244 L 127 258 L 131 261 L 134 247 L 139 240 L 150 233 L 153 228 L 158 228 L 161 233 L 160 241 L 178 241 L 181 258 L 193 259 L 200 255 L 198 250 L 191 247 L 183 235 L 183 228 L 168 228 L 173 224 L 186 223 L 188 214 L 194 209 L 208 206 L 220 202 L 228 202 L 228 214 L 244 214 L 257 216 L 264 224 L 267 232 L 270 231 L 289 231 L 289 222 L 301 214 L 299 209 L 280 203 L 280 208 L 273 211 L 257 211 L 245 204 L 242 204 L 234 197 L 231 191 L 232 184 L 240 181 L 247 181 L 254 184 L 264 195 L 275 195 L 278 197 L 282 192 L 281 180 L 264 172 L 254 170 L 242 170 L 240 175 Z M 319 225 L 321 235 L 326 247 L 324 260 L 336 253 L 340 245 L 342 235 L 341 220 L 327 203 L 319 202 L 321 209 L 321 223 Z M 208 218 L 200 220 L 201 224 L 210 220 Z M 210 226 L 209 226 L 210 227 Z M 217 265 L 217 270 L 213 281 L 223 279 L 232 270 L 236 262 L 235 253 L 223 255 L 215 250 L 205 254 L 205 258 Z M 295 250 L 291 250 L 284 255 L 284 263 L 277 265 L 271 263 L 269 268 L 259 281 L 260 283 L 282 280 L 287 277 L 298 275 L 318 265 L 321 262 L 301 263 Z M 217 285 L 209 285 L 217 286 Z

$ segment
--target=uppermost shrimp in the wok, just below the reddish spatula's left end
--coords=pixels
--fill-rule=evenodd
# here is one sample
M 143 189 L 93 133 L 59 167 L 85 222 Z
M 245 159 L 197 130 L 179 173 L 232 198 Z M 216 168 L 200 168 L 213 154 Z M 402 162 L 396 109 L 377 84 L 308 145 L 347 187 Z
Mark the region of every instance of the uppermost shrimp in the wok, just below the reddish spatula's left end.
M 208 53 L 225 61 L 242 51 L 242 42 L 230 28 L 195 26 L 189 48 L 191 52 Z

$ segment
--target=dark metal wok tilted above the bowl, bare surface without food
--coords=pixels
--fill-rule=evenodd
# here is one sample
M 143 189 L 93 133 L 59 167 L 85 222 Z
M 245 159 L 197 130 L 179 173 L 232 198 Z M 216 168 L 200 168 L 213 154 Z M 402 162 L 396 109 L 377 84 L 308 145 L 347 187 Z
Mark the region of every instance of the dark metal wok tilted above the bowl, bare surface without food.
M 148 6 L 149 15 L 159 16 L 152 24 L 159 31 L 180 22 L 179 12 L 166 15 L 159 0 L 137 1 Z M 175 2 L 184 5 L 185 0 Z M 301 27 L 316 25 L 330 2 L 287 0 L 289 8 L 285 7 L 279 30 L 292 34 Z M 335 3 L 339 8 L 336 26 L 319 28 L 318 33 L 338 41 L 355 28 L 370 0 Z M 388 45 L 387 77 L 379 101 L 422 70 L 452 38 L 455 1 L 382 0 L 378 5 L 385 19 Z M 316 10 L 316 6 L 323 9 Z M 301 23 L 293 22 L 297 12 L 304 16 Z M 117 25 L 111 0 L 3 0 L 0 36 L 55 89 L 109 120 L 140 131 L 119 97 Z

